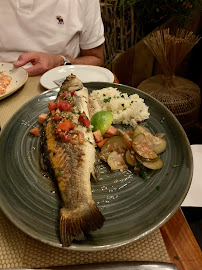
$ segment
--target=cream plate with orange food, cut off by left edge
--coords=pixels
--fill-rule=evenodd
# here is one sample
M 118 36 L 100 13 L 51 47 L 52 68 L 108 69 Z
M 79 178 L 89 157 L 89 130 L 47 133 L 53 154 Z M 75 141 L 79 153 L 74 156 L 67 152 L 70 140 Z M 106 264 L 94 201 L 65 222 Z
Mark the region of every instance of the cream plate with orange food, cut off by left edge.
M 0 62 L 0 100 L 20 89 L 27 78 L 28 73 L 23 67 L 15 68 L 12 63 Z

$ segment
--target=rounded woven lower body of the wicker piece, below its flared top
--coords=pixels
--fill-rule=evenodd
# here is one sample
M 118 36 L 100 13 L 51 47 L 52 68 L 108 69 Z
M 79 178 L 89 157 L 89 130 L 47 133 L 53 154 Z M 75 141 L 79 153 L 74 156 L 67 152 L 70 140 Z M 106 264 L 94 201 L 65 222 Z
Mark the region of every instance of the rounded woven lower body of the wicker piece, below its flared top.
M 185 130 L 198 122 L 200 88 L 192 81 L 177 76 L 169 79 L 164 75 L 156 75 L 141 82 L 137 88 L 162 102 Z

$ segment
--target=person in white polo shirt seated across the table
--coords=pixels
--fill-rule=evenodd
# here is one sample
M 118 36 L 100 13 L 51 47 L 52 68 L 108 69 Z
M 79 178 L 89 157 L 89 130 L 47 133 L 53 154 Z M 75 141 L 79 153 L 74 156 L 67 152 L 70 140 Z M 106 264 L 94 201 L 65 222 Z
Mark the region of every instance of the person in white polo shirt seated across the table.
M 104 64 L 99 0 L 1 0 L 0 61 L 29 76 L 63 64 Z

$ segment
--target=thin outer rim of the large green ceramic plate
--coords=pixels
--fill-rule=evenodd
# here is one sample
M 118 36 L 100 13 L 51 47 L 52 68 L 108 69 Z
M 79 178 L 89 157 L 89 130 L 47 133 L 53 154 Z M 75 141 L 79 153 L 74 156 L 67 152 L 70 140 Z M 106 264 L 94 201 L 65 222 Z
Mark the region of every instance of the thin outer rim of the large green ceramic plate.
M 134 87 L 131 87 L 131 86 L 127 86 L 127 85 L 124 85 L 124 84 L 117 84 L 117 83 L 109 83 L 109 82 L 88 82 L 88 83 L 84 83 L 84 86 L 88 86 L 90 84 L 108 84 L 108 86 L 104 86 L 104 87 L 113 87 L 115 85 L 119 85 L 119 86 L 124 86 L 126 88 L 130 88 L 132 90 L 136 90 L 137 92 L 140 92 L 140 93 L 143 93 L 145 96 L 149 96 L 149 98 L 151 99 L 154 99 L 155 102 L 158 102 L 161 106 L 163 105 L 160 101 L 158 101 L 157 99 L 153 98 L 152 96 L 150 96 L 149 94 L 143 92 L 142 90 L 139 90 L 137 88 L 134 88 Z M 57 93 L 57 90 L 59 90 L 59 87 L 56 87 L 56 88 L 53 88 L 53 89 L 50 89 L 50 90 L 47 90 L 47 91 L 44 91 L 43 93 L 33 97 L 32 99 L 30 99 L 29 101 L 27 101 L 20 109 L 20 110 L 23 110 L 23 107 L 28 104 L 29 102 L 31 102 L 32 100 L 34 100 L 35 98 L 41 96 L 41 95 L 46 95 L 46 93 L 50 92 L 50 91 L 55 91 L 55 93 Z M 139 93 L 138 93 L 139 94 Z M 183 127 L 181 126 L 180 122 L 178 121 L 178 119 L 174 116 L 173 113 L 171 113 L 171 111 L 165 106 L 163 105 L 164 109 L 166 109 L 168 111 L 168 113 L 170 114 L 170 116 L 174 119 L 174 121 L 177 122 L 181 132 L 184 134 L 184 138 L 186 139 L 186 143 L 189 143 L 188 141 L 188 138 L 187 138 L 187 135 L 186 133 L 184 132 L 184 129 Z M 2 133 L 4 131 L 4 128 L 6 128 L 6 126 L 8 124 L 10 124 L 10 122 L 12 121 L 12 119 L 15 117 L 15 115 L 13 115 L 9 121 L 6 123 L 6 125 L 3 127 L 2 129 Z M 33 236 L 31 233 L 29 232 L 25 232 L 24 230 L 22 230 L 22 228 L 20 227 L 19 223 L 21 223 L 20 221 L 16 222 L 14 221 L 15 218 L 13 218 L 10 213 L 6 210 L 6 208 L 1 204 L 0 208 L 2 209 L 2 211 L 6 214 L 6 216 L 12 221 L 12 223 L 15 224 L 15 226 L 17 226 L 21 231 L 23 231 L 24 233 L 26 233 L 27 235 L 29 235 L 30 237 L 36 239 L 36 240 L 39 240 L 45 244 L 49 244 L 51 246 L 55 246 L 55 247 L 58 247 L 58 248 L 62 248 L 62 249 L 69 249 L 69 250 L 76 250 L 76 251 L 101 251 L 101 250 L 107 250 L 107 249 L 112 249 L 112 248 L 116 248 L 116 247 L 120 247 L 120 246 L 123 246 L 123 245 L 126 245 L 126 244 L 129 244 L 129 243 L 132 243 L 133 241 L 136 241 L 138 239 L 141 239 L 145 236 L 147 236 L 148 234 L 150 234 L 151 232 L 155 231 L 156 229 L 160 228 L 163 224 L 165 224 L 175 213 L 176 211 L 180 208 L 180 205 L 181 203 L 183 202 L 186 194 L 188 193 L 189 191 L 189 188 L 191 186 L 191 182 L 192 182 L 192 177 L 193 177 L 193 155 L 192 155 L 192 151 L 191 151 L 191 146 L 189 147 L 188 149 L 188 153 L 189 153 L 189 159 L 191 161 L 191 166 L 190 166 L 190 175 L 189 175 L 189 179 L 187 181 L 187 186 L 186 186 L 186 190 L 184 190 L 183 194 L 184 194 L 184 197 L 178 199 L 178 203 L 176 203 L 175 207 L 172 208 L 172 211 L 170 211 L 170 213 L 158 224 L 154 225 L 150 230 L 147 230 L 146 232 L 138 235 L 138 236 L 135 236 L 133 238 L 130 238 L 128 240 L 123 240 L 123 241 L 119 241 L 117 243 L 114 243 L 114 244 L 110 244 L 110 245 L 103 245 L 103 246 L 90 246 L 90 245 L 79 245 L 79 244 L 72 244 L 70 247 L 62 247 L 62 245 L 60 243 L 55 243 L 55 242 L 51 242 L 51 241 L 48 241 L 48 240 L 45 240 L 45 239 L 41 239 L 40 237 L 36 237 L 36 236 Z M 1 201 L 1 198 L 0 198 L 0 201 Z

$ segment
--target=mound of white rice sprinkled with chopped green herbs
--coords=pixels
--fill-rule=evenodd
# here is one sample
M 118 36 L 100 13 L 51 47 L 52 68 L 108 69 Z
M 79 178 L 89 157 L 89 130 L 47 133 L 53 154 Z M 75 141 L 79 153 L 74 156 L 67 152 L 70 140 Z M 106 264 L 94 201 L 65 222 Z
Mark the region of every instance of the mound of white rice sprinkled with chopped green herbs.
M 149 118 L 148 106 L 138 94 L 128 96 L 117 88 L 108 87 L 94 90 L 90 94 L 93 113 L 104 110 L 112 112 L 113 124 L 126 124 L 135 127 L 138 122 Z M 92 112 L 91 112 L 92 115 Z

